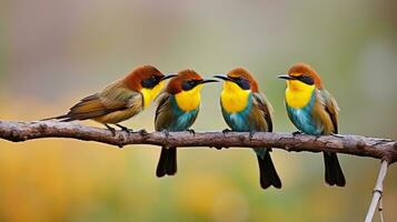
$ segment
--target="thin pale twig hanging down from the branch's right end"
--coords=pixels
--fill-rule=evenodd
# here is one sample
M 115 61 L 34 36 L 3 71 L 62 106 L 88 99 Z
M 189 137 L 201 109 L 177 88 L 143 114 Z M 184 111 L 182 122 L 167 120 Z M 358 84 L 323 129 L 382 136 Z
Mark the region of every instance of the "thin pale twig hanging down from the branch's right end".
M 381 218 L 381 221 L 383 221 L 381 196 L 383 196 L 383 192 L 384 192 L 384 180 L 386 178 L 387 167 L 388 167 L 387 161 L 383 160 L 381 164 L 380 164 L 378 179 L 376 181 L 376 185 L 375 185 L 375 189 L 374 189 L 373 201 L 370 202 L 370 205 L 369 205 L 368 213 L 367 213 L 367 216 L 365 219 L 365 222 L 371 222 L 373 221 L 374 213 L 375 213 L 375 210 L 376 210 L 376 206 L 378 205 L 378 203 L 380 203 L 379 204 L 379 212 L 380 212 L 380 218 Z

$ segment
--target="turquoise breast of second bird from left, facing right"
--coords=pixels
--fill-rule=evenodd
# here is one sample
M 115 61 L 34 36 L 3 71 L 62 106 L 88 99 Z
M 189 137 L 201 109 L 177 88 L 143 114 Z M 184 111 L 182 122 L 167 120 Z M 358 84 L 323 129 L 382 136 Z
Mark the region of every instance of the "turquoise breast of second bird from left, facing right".
M 195 122 L 199 108 L 196 108 L 192 111 L 185 112 L 181 110 L 178 104 L 177 100 L 175 97 L 171 97 L 170 99 L 171 102 L 171 108 L 172 108 L 172 122 L 171 124 L 168 125 L 167 130 L 168 131 L 185 131 L 188 130 Z

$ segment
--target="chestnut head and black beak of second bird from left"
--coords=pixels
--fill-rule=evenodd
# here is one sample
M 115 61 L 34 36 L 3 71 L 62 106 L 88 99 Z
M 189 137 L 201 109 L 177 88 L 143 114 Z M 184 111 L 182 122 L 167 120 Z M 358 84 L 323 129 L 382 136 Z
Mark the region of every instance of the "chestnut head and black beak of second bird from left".
M 217 82 L 217 80 L 202 79 L 196 71 L 186 69 L 178 72 L 167 85 L 167 92 L 178 94 L 180 92 L 199 93 L 202 84 Z

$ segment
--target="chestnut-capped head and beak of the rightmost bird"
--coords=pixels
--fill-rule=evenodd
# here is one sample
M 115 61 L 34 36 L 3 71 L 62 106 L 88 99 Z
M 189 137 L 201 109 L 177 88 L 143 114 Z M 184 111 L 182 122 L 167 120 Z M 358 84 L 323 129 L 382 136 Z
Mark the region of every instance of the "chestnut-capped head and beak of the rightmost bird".
M 294 91 L 322 89 L 320 77 L 310 65 L 302 62 L 294 64 L 288 70 L 288 74 L 282 74 L 278 78 L 287 80 L 288 88 Z

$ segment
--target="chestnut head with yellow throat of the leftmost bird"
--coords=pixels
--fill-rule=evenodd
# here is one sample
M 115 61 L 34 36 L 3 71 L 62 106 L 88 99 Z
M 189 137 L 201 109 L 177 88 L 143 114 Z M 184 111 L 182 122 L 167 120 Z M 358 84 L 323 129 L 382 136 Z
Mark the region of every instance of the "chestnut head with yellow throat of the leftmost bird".
M 172 77 L 176 74 L 165 75 L 153 65 L 143 64 L 133 69 L 123 81 L 129 89 L 143 94 L 145 107 L 147 107 L 161 91 L 163 81 Z

